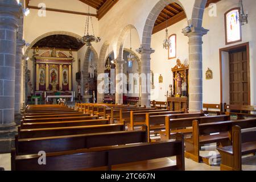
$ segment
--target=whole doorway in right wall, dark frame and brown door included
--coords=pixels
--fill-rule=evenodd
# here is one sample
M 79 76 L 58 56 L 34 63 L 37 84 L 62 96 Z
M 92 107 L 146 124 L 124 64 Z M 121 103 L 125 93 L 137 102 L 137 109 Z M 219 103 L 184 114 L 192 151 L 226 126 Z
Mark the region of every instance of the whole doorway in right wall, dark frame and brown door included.
M 250 105 L 249 43 L 220 49 L 221 103 Z

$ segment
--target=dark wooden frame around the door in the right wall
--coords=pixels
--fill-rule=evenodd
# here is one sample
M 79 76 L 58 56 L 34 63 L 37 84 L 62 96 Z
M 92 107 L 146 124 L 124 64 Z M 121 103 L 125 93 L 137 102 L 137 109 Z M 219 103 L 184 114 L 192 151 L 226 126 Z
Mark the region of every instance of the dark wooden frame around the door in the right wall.
M 230 47 L 225 47 L 220 49 L 220 101 L 223 103 L 223 81 L 222 81 L 222 52 L 230 52 L 239 48 L 246 47 L 246 55 L 247 55 L 247 80 L 248 82 L 248 103 L 249 105 L 251 104 L 251 86 L 250 86 L 250 47 L 249 47 L 249 42 L 238 44 L 235 46 L 230 46 Z

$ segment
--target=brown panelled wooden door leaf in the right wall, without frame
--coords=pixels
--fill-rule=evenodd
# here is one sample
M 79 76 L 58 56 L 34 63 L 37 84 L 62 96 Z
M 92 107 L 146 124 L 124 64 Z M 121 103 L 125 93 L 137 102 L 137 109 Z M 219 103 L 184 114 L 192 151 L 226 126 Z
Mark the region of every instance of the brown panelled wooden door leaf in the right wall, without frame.
M 246 50 L 229 52 L 230 105 L 249 105 L 249 73 Z

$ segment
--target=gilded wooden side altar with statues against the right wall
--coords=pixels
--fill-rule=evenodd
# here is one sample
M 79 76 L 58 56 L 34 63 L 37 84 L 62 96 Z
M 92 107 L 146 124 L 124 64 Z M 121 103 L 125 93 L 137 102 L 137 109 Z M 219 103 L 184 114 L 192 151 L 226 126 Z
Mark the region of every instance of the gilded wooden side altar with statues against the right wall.
M 177 64 L 172 68 L 173 85 L 170 85 L 170 94 L 167 97 L 167 103 L 172 111 L 188 109 L 188 76 L 189 67 L 187 64 L 181 64 L 177 59 Z

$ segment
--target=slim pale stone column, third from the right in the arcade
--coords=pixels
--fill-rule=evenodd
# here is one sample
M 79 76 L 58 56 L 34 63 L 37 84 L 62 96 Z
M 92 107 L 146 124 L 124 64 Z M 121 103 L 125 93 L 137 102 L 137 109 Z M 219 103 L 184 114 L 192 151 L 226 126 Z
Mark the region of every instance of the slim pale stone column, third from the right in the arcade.
M 123 104 L 123 64 L 125 60 L 115 60 L 115 103 Z

